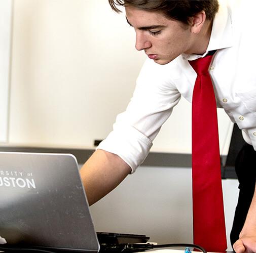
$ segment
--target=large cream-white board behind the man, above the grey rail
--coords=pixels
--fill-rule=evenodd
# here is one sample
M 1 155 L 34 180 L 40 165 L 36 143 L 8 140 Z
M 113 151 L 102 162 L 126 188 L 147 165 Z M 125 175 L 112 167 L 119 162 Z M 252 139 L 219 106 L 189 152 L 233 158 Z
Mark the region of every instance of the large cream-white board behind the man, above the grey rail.
M 134 35 L 106 0 L 15 0 L 10 145 L 86 148 L 104 139 L 145 59 Z M 223 111 L 219 121 L 226 154 L 232 125 Z M 174 109 L 152 150 L 191 152 L 187 101 Z

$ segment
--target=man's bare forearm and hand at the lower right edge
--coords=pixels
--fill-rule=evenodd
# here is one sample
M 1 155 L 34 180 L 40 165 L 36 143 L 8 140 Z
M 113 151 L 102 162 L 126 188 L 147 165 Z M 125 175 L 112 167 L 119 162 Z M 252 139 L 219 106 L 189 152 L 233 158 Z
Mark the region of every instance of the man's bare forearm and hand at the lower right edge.
M 256 252 L 256 187 L 239 240 L 233 247 L 237 253 Z

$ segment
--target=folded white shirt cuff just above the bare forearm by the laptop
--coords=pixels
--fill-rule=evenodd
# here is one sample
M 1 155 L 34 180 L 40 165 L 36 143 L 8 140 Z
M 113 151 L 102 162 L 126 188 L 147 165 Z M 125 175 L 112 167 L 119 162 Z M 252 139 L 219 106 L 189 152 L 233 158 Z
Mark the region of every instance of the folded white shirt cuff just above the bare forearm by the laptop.
M 96 149 L 121 157 L 131 167 L 132 174 L 148 156 L 152 145 L 152 141 L 133 126 L 126 126 L 112 131 Z

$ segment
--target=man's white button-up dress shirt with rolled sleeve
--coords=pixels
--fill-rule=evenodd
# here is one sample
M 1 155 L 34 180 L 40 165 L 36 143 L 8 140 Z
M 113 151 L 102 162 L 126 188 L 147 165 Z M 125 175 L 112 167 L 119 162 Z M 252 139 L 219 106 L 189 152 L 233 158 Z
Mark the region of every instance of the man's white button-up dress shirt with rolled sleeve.
M 256 150 L 256 37 L 252 34 L 256 1 L 249 6 L 245 2 L 220 3 L 204 55 L 180 55 L 166 65 L 147 59 L 126 111 L 117 116 L 113 131 L 98 149 L 119 155 L 134 172 L 180 96 L 192 102 L 197 74 L 188 60 L 217 50 L 209 68 L 217 107 L 224 108 Z

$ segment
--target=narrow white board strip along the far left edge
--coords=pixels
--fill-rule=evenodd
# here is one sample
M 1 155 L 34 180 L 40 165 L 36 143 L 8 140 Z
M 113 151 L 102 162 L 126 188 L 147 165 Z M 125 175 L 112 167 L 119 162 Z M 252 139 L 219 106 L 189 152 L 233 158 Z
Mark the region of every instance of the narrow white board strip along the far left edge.
M 0 142 L 8 141 L 12 0 L 0 1 Z

